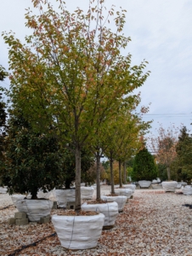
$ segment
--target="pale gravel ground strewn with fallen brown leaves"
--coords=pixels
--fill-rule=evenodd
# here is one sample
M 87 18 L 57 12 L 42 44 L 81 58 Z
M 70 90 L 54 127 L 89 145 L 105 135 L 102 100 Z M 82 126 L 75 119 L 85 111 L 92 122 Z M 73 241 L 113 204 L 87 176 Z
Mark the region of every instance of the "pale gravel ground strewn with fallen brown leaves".
M 102 195 L 110 186 L 102 186 Z M 83 251 L 66 251 L 60 246 L 54 227 L 30 223 L 25 226 L 8 225 L 8 218 L 17 212 L 8 194 L 0 195 L 0 255 L 179 255 L 192 256 L 191 195 L 165 193 L 162 189 L 136 189 L 116 218 L 112 230 L 103 230 L 98 246 Z M 95 196 L 95 193 L 94 193 Z M 3 207 L 7 207 L 4 208 Z M 61 210 L 52 210 L 55 214 Z M 50 236 L 50 237 L 48 237 Z M 44 238 L 44 240 L 41 240 Z M 36 244 L 34 243 L 35 241 Z M 18 253 L 16 249 L 33 243 Z

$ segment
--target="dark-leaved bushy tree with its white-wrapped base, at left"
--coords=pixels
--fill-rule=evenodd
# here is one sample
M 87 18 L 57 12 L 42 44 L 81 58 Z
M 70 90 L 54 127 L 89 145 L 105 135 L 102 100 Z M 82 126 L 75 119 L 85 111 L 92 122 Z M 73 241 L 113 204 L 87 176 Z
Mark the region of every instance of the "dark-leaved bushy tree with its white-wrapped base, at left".
M 16 109 L 8 124 L 2 179 L 7 181 L 10 195 L 31 194 L 31 199 L 17 196 L 14 205 L 26 212 L 30 221 L 39 221 L 50 213 L 53 201 L 38 199 L 38 190 L 48 192 L 62 179 L 59 142 L 51 129 L 48 136 L 33 131 Z

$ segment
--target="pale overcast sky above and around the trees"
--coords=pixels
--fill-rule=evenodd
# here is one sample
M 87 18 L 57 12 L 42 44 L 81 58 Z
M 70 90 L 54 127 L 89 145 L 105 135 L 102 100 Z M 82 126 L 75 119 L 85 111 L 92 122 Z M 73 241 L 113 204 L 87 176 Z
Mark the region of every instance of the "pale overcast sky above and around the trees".
M 51 1 L 55 4 L 55 1 Z M 70 11 L 88 9 L 88 0 L 66 0 Z M 106 6 L 127 9 L 124 34 L 132 38 L 126 52 L 133 55 L 133 64 L 144 59 L 150 77 L 140 88 L 142 105 L 150 105 L 144 120 L 154 119 L 168 127 L 181 123 L 192 130 L 192 1 L 191 0 L 107 0 Z M 30 0 L 1 1 L 0 32 L 12 30 L 23 39 L 30 32 L 25 28 L 25 9 Z M 22 41 L 24 42 L 24 40 Z M 0 64 L 8 68 L 8 46 L 0 37 Z M 1 82 L 0 82 L 1 83 Z M 8 84 L 8 79 L 5 80 Z M 6 85 L 4 84 L 4 85 Z

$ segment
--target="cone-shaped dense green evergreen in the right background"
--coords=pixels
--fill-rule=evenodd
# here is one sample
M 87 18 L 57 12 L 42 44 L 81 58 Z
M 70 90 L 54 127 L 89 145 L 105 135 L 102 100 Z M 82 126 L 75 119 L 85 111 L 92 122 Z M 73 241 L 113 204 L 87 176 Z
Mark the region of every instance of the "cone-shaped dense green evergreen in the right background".
M 147 148 L 141 149 L 136 154 L 133 163 L 132 179 L 138 180 L 152 180 L 157 177 L 157 168 L 152 154 Z

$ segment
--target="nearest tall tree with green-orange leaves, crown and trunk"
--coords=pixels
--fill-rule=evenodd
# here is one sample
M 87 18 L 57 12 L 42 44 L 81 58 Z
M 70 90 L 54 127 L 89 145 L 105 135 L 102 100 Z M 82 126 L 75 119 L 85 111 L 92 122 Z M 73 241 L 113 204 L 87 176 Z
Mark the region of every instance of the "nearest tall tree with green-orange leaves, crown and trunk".
M 106 125 L 121 104 L 149 76 L 145 63 L 131 67 L 131 55 L 121 55 L 130 38 L 122 34 L 125 10 L 116 12 L 116 32 L 106 26 L 104 0 L 88 13 L 71 14 L 59 0 L 55 11 L 47 0 L 32 0 L 40 15 L 25 15 L 33 33 L 26 44 L 3 33 L 9 45 L 11 87 L 8 96 L 23 109 L 37 131 L 57 127 L 76 155 L 76 210 L 81 208 L 81 149 L 99 126 Z M 109 20 L 110 21 L 110 20 Z

